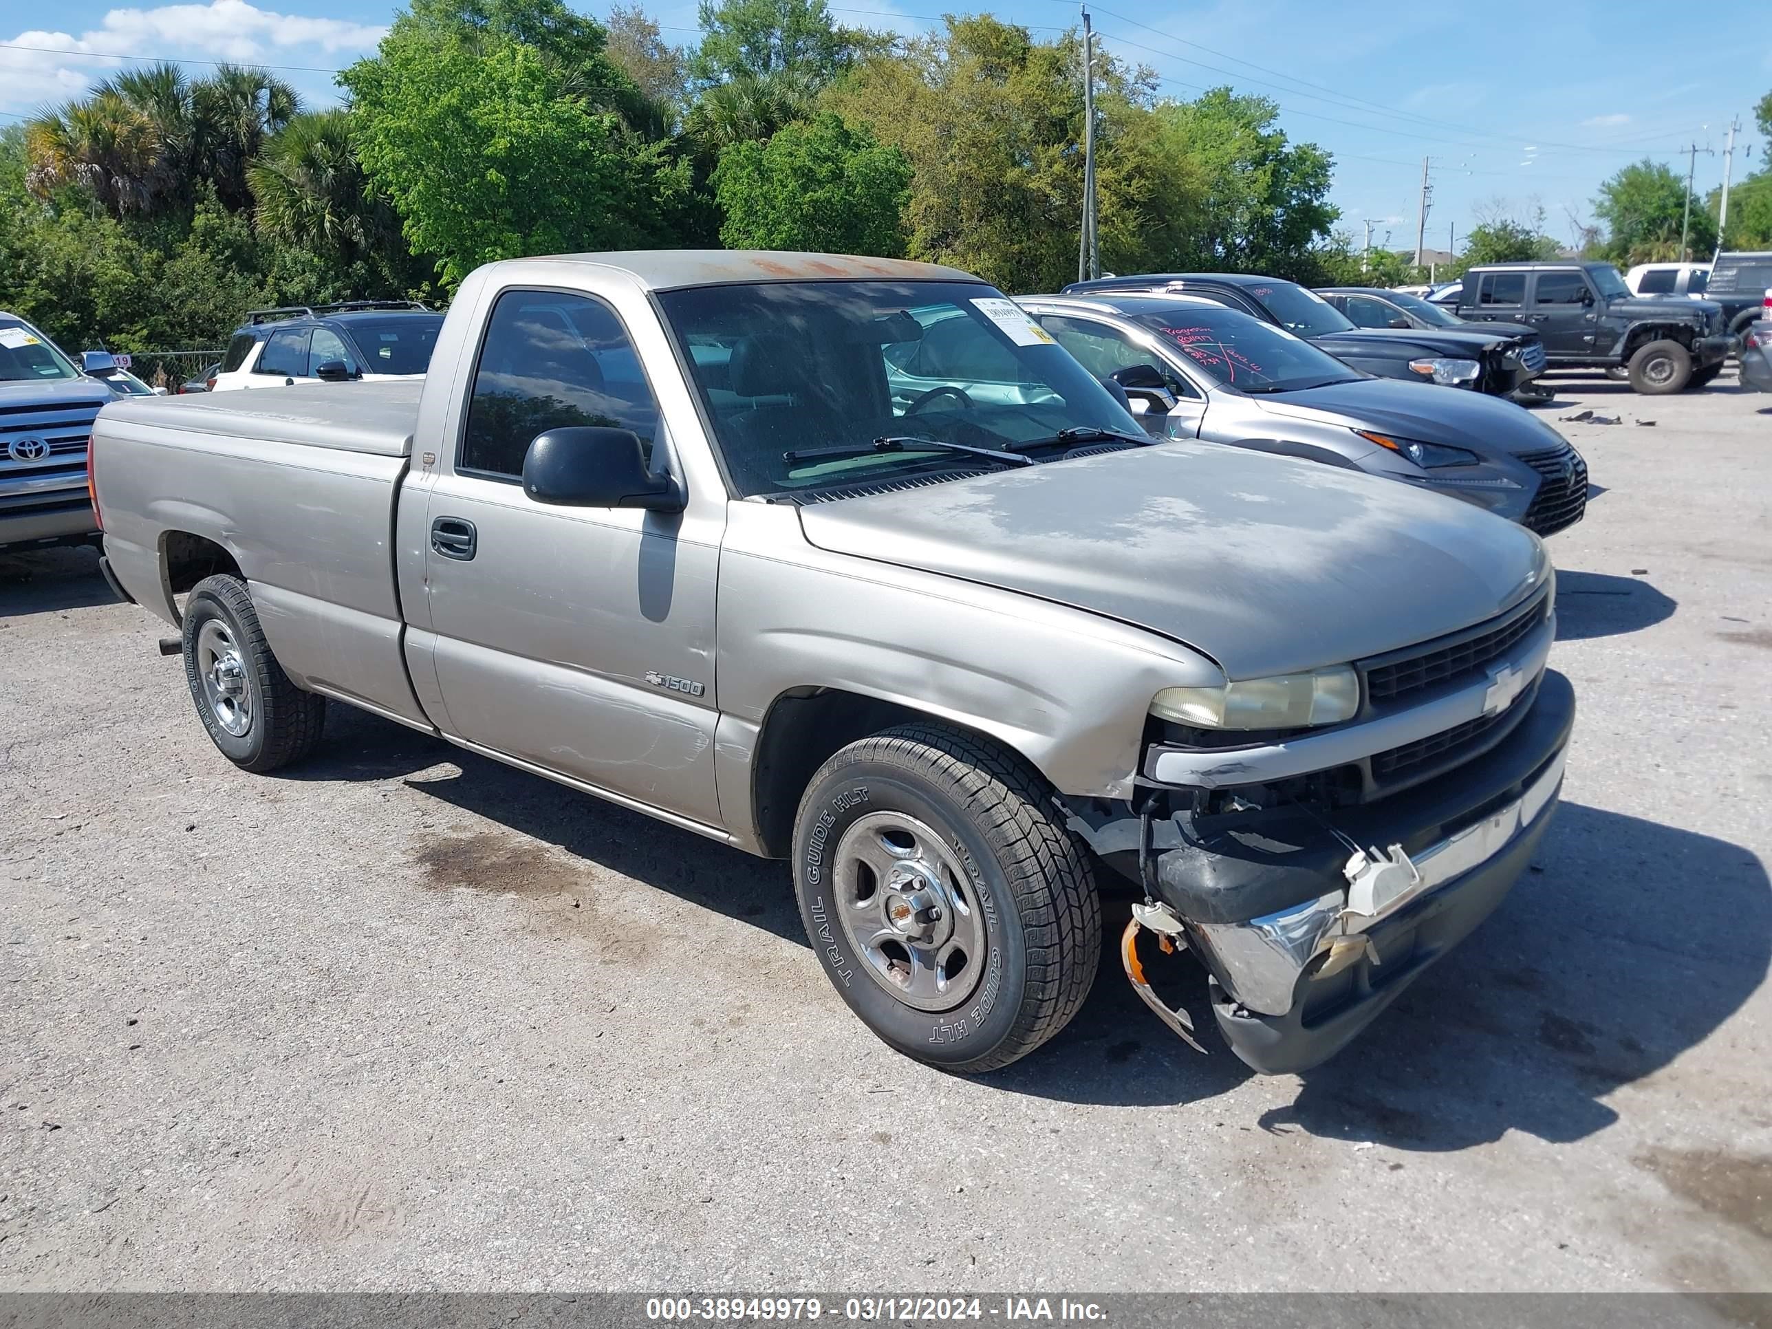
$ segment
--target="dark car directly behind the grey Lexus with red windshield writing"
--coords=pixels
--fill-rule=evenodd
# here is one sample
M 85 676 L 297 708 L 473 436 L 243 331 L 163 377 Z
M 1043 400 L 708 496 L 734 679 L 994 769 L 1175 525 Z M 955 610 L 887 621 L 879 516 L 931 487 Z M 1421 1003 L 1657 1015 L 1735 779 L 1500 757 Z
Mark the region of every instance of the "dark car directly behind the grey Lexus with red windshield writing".
M 1242 273 L 1157 273 L 1148 276 L 1102 276 L 1072 282 L 1067 296 L 1095 291 L 1162 291 L 1203 296 L 1219 305 L 1253 314 L 1315 342 L 1345 365 L 1382 379 L 1442 383 L 1506 395 L 1520 388 L 1531 370 L 1524 365 L 1526 344 L 1487 328 L 1356 328 L 1345 314 L 1313 291 L 1279 276 Z

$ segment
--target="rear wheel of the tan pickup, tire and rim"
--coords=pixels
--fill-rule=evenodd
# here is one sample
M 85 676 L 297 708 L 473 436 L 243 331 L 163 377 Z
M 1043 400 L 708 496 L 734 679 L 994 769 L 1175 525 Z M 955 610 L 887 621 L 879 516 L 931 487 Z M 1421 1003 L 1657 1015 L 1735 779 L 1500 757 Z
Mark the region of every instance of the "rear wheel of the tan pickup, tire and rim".
M 243 771 L 275 771 L 319 746 L 326 698 L 289 680 L 246 583 L 204 578 L 184 602 L 184 679 L 209 739 Z

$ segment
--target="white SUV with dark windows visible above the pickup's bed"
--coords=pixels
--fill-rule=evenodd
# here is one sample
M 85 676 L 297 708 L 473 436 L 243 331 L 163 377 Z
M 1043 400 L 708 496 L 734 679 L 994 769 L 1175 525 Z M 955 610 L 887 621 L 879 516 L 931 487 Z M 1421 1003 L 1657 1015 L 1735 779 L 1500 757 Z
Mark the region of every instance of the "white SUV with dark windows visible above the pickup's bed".
M 257 308 L 229 340 L 209 390 L 424 374 L 441 328 L 443 315 L 415 299 Z

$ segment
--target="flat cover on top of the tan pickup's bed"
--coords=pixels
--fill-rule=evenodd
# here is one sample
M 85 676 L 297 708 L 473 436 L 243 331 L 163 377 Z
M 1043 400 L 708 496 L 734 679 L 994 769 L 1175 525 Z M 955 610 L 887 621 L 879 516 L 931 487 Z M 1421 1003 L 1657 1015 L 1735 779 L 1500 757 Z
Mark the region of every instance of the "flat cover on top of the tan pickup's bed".
M 298 388 L 191 393 L 190 397 L 126 397 L 112 402 L 106 420 L 232 434 L 266 443 L 372 452 L 406 457 L 413 450 L 422 381 L 303 383 Z

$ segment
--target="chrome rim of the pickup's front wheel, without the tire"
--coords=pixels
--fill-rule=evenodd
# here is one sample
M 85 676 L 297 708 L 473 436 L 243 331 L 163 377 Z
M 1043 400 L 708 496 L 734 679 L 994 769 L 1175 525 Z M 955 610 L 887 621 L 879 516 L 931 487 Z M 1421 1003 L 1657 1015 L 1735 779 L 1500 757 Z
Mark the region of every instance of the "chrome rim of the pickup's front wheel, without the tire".
M 870 812 L 836 842 L 838 920 L 868 976 L 916 1010 L 978 985 L 985 927 L 959 856 L 916 817 Z

